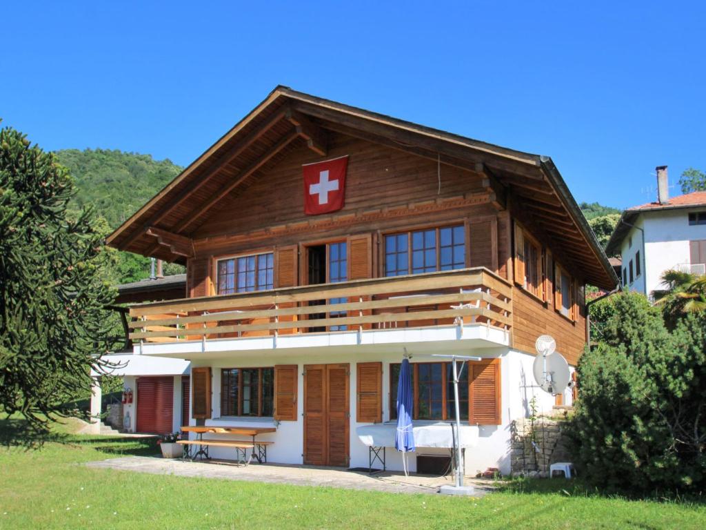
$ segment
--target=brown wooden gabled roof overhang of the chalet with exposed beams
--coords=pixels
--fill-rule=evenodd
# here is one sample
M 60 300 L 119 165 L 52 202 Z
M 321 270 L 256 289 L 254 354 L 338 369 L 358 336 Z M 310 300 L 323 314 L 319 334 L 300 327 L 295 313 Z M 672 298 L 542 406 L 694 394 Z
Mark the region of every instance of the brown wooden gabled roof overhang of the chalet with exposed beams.
M 554 240 L 556 254 L 602 288 L 618 283 L 551 158 L 494 146 L 278 86 L 221 139 L 109 235 L 108 245 L 184 263 L 193 232 L 291 151 L 326 154 L 330 131 L 484 175 L 491 201 Z

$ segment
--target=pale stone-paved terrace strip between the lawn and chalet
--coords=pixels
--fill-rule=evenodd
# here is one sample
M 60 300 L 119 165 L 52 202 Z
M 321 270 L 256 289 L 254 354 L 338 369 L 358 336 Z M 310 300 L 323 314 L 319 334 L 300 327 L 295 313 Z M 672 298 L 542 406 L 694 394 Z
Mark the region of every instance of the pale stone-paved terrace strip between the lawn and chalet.
M 347 471 L 340 468 L 318 466 L 289 466 L 286 464 L 251 464 L 236 466 L 232 461 L 211 460 L 208 462 L 181 461 L 160 457 L 120 457 L 88 462 L 92 468 L 118 469 L 156 475 L 189 476 L 198 478 L 221 478 L 231 481 L 253 481 L 275 484 L 328 486 L 353 490 L 374 490 L 388 493 L 438 493 L 444 484 L 453 484 L 451 477 L 436 477 L 404 473 L 383 472 L 369 476 L 368 473 Z M 473 485 L 475 496 L 482 496 L 493 489 L 491 483 L 465 479 Z

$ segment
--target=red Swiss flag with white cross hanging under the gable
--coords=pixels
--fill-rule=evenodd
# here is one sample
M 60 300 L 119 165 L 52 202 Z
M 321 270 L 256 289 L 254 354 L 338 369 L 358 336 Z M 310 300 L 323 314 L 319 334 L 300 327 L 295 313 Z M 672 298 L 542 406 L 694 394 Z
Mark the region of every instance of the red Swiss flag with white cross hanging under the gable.
M 348 156 L 301 166 L 304 170 L 304 213 L 318 216 L 343 208 Z

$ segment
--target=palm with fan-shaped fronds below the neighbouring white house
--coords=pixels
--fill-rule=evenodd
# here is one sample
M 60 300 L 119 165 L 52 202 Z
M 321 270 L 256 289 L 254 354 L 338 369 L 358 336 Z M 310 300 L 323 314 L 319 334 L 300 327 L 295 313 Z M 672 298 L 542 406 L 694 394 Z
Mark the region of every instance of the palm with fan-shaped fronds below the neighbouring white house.
M 652 291 L 655 305 L 662 305 L 666 316 L 706 311 L 706 276 L 670 269 L 662 274 L 664 289 Z

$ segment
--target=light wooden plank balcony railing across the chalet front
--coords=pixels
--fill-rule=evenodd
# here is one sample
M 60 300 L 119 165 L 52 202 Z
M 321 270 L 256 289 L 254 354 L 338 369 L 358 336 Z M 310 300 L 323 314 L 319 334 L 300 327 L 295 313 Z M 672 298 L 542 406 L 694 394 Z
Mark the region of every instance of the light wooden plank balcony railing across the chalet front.
M 512 287 L 483 268 L 134 305 L 133 341 L 364 331 L 448 324 L 509 330 Z

